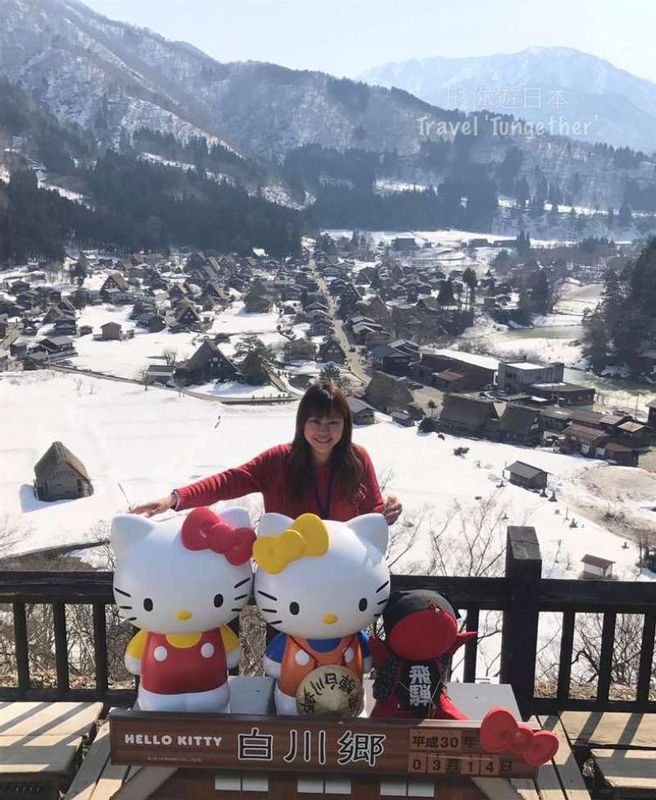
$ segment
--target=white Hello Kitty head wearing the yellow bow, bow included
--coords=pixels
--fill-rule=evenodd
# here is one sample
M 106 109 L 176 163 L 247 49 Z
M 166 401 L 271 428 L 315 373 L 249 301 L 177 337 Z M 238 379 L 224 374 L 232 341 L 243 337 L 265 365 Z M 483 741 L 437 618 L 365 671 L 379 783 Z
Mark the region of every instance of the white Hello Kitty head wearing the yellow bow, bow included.
M 389 597 L 387 539 L 382 514 L 349 522 L 265 514 L 254 547 L 262 616 L 303 639 L 341 638 L 368 627 Z

